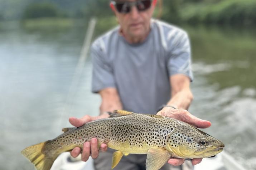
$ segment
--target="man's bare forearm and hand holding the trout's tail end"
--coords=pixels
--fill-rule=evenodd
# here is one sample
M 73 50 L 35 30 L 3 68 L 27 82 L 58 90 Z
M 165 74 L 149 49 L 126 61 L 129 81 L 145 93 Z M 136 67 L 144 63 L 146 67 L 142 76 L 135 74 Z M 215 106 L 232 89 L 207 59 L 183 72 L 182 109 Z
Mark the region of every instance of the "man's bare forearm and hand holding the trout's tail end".
M 69 122 L 73 126 L 79 127 L 79 126 L 82 126 L 84 123 L 87 123 L 93 120 L 107 118 L 109 117 L 109 115 L 106 112 L 113 112 L 114 110 L 122 109 L 122 103 L 116 88 L 112 88 L 112 87 L 105 88 L 105 89 L 102 89 L 99 93 L 102 99 L 101 106 L 100 106 L 100 115 L 95 117 L 85 115 L 80 119 L 71 117 L 69 118 Z M 100 149 L 102 151 L 106 151 L 107 145 L 101 144 Z M 80 153 L 81 153 L 81 149 L 79 147 L 76 147 L 71 151 L 71 155 L 73 157 L 77 157 Z M 93 159 L 96 159 L 98 157 L 98 141 L 96 138 L 92 138 L 90 142 L 88 141 L 84 143 L 83 151 L 82 151 L 82 161 L 87 161 L 90 155 L 92 156 Z

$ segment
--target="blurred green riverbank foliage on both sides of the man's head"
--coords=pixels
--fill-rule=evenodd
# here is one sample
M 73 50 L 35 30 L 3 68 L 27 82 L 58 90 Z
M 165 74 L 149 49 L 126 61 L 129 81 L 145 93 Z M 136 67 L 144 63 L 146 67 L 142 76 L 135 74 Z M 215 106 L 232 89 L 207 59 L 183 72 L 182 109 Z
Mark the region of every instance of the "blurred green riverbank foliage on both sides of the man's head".
M 11 3 L 13 1 L 9 0 L 2 3 L 0 20 L 26 20 L 45 17 L 88 20 L 92 16 L 97 18 L 113 16 L 113 12 L 109 8 L 109 0 L 77 0 L 76 2 L 68 0 L 45 0 L 43 2 L 24 0 L 22 4 L 19 4 L 19 1 Z M 174 24 L 256 25 L 256 0 L 158 0 L 158 2 L 162 2 L 161 19 Z M 17 8 L 17 6 L 22 8 Z M 156 13 L 158 11 L 161 10 L 157 6 Z

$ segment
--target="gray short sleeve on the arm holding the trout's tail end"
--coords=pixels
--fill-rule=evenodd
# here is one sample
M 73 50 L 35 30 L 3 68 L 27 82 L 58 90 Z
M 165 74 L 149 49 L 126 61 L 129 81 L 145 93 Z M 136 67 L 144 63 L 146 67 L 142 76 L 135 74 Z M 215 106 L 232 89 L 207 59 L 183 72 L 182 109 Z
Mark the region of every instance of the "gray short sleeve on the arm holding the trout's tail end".
M 91 47 L 92 58 L 92 92 L 97 93 L 103 88 L 115 87 L 113 68 L 104 50 L 97 43 Z

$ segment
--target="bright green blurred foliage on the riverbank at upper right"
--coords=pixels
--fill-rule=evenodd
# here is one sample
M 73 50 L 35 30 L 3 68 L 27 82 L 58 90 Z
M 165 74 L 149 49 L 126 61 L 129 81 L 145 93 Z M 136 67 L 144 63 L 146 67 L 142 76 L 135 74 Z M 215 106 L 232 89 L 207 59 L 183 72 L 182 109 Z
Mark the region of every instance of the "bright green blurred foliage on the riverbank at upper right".
M 184 4 L 180 18 L 189 23 L 256 25 L 256 1 L 211 0 Z

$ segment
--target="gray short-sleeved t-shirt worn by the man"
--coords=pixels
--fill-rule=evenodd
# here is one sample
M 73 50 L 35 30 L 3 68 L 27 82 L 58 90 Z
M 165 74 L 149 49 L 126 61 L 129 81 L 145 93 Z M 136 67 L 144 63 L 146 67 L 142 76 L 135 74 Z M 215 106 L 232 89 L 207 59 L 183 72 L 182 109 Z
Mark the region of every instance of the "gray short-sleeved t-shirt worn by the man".
M 140 44 L 129 44 L 119 27 L 107 32 L 92 44 L 91 57 L 92 92 L 117 88 L 127 111 L 153 114 L 170 99 L 170 76 L 193 79 L 187 33 L 159 20 L 151 20 Z

